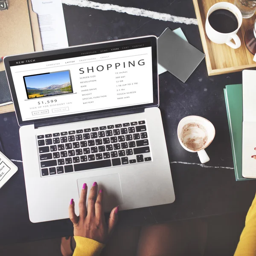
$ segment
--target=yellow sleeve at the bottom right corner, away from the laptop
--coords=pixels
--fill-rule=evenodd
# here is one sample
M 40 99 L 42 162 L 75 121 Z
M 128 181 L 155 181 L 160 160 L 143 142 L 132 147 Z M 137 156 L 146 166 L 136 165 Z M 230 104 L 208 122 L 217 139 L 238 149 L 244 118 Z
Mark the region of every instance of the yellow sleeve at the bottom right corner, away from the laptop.
M 256 256 L 256 196 L 247 213 L 234 256 Z

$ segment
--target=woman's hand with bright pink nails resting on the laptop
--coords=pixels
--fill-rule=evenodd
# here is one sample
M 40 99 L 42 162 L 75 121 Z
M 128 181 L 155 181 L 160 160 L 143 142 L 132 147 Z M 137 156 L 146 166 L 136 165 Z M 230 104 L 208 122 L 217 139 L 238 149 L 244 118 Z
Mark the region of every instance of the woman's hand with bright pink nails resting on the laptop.
M 101 189 L 97 196 L 97 190 L 98 185 L 94 182 L 90 189 L 87 210 L 87 185 L 84 183 L 79 199 L 79 216 L 75 213 L 75 203 L 71 199 L 69 217 L 74 224 L 74 236 L 87 237 L 105 244 L 115 227 L 119 206 L 111 211 L 108 224 L 106 224 L 102 205 L 104 193 Z

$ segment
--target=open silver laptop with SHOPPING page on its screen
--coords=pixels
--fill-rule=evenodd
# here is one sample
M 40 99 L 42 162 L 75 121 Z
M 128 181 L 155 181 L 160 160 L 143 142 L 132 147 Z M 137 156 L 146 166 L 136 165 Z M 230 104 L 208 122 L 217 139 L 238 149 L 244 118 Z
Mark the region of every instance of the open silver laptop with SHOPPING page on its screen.
M 105 211 L 175 200 L 159 105 L 157 38 L 4 58 L 32 222 L 79 214 L 96 181 Z

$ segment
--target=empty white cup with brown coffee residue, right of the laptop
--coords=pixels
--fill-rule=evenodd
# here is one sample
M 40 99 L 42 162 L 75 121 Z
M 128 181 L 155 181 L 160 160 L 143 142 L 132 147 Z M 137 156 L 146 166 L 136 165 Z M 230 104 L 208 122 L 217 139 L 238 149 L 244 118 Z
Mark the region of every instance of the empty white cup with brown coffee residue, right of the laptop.
M 177 128 L 180 145 L 189 152 L 197 152 L 201 163 L 210 159 L 204 150 L 215 137 L 212 123 L 201 116 L 186 116 L 180 120 Z

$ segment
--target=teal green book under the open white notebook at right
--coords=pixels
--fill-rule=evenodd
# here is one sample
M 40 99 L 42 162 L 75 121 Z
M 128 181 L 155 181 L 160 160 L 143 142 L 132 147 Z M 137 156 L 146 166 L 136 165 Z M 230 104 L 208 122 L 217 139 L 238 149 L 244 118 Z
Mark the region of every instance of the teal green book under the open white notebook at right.
M 243 93 L 242 84 L 226 85 L 224 96 L 233 154 L 236 180 L 251 180 L 242 176 L 242 123 Z

